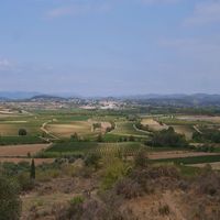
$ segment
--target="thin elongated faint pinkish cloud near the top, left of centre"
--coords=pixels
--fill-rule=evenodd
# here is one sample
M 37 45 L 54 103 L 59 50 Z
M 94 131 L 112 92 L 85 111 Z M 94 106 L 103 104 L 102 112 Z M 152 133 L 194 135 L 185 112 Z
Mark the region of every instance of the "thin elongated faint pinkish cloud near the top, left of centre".
M 65 15 L 84 15 L 88 13 L 102 13 L 109 11 L 110 6 L 107 3 L 102 4 L 92 4 L 92 3 L 85 3 L 85 4 L 72 4 L 67 7 L 59 7 L 50 10 L 46 13 L 47 18 L 59 18 Z

